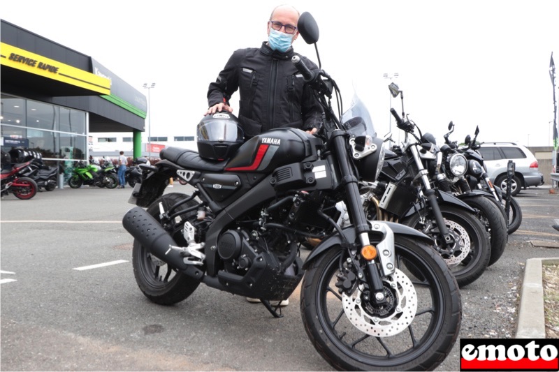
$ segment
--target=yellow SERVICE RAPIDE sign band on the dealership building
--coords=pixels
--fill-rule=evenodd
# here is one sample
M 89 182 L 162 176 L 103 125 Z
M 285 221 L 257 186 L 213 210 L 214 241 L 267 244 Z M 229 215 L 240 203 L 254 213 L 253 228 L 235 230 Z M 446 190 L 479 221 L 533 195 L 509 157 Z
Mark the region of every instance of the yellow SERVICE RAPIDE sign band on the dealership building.
M 68 66 L 54 59 L 43 57 L 6 43 L 1 43 L 0 45 L 0 62 L 4 66 L 48 77 L 49 79 L 89 89 L 90 91 L 96 91 L 99 94 L 110 95 L 110 80 L 106 77 L 88 73 L 85 70 Z

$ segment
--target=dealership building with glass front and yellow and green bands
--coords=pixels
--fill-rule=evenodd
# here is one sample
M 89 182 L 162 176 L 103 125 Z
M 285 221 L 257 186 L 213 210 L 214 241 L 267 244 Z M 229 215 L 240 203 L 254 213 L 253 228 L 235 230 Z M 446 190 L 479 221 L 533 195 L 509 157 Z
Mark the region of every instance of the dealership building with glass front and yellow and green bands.
M 89 156 L 92 133 L 131 133 L 143 153 L 147 101 L 93 57 L 0 20 L 1 145 L 40 152 L 45 163 Z

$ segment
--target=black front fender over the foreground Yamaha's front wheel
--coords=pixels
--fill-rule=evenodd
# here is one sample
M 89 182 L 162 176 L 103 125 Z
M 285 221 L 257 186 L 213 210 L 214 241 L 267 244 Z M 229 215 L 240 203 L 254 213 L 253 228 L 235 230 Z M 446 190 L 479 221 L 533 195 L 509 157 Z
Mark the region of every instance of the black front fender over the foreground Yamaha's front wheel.
M 370 221 L 370 222 L 375 223 L 376 221 Z M 418 230 L 414 230 L 413 228 L 410 228 L 409 226 L 402 225 L 400 223 L 395 223 L 395 222 L 386 222 L 386 221 L 379 221 L 379 222 L 382 222 L 382 223 L 388 225 L 389 228 L 391 228 L 391 230 L 393 231 L 394 235 L 403 235 L 405 237 L 409 237 L 409 238 L 412 238 L 412 239 L 423 241 L 423 243 L 426 243 L 428 245 L 433 244 L 433 239 L 431 239 L 427 235 L 423 234 L 423 232 L 420 232 Z M 353 242 L 357 239 L 357 235 L 356 235 L 355 228 L 354 228 L 353 225 L 347 226 L 346 228 L 343 228 L 342 233 L 343 233 L 345 239 L 347 239 L 347 241 L 349 241 L 349 242 Z M 371 242 L 374 242 L 374 241 L 381 241 L 383 239 L 383 237 L 379 237 L 379 235 L 377 235 L 376 232 L 370 232 L 369 233 L 369 239 L 371 239 Z M 324 238 L 320 242 L 320 244 L 317 245 L 312 250 L 310 255 L 307 257 L 307 260 L 305 260 L 305 263 L 303 264 L 303 269 L 307 269 L 307 267 L 310 265 L 310 263 L 315 258 L 317 258 L 319 255 L 321 255 L 324 251 L 326 251 L 328 249 L 331 249 L 333 246 L 337 246 L 337 245 L 340 245 L 340 244 L 342 244 L 342 239 L 337 232 L 334 232 L 333 234 L 328 235 L 328 237 Z

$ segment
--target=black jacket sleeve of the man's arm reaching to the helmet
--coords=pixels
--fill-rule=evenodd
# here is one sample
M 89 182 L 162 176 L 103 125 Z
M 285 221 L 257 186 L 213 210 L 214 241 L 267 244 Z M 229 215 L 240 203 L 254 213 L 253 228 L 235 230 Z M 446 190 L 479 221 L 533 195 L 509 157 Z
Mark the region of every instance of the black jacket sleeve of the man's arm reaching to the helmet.
M 242 50 L 236 50 L 227 61 L 222 72 L 217 75 L 215 82 L 208 88 L 208 107 L 217 103 L 229 104 L 229 99 L 239 87 L 239 63 L 242 60 Z

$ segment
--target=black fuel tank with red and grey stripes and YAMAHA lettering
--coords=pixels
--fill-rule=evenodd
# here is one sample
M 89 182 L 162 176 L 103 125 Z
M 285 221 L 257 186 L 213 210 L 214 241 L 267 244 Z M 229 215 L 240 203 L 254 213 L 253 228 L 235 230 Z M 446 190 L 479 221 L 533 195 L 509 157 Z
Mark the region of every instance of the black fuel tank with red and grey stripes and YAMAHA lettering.
M 322 140 L 295 128 L 276 128 L 252 137 L 228 161 L 228 172 L 270 173 L 300 161 L 316 161 Z

